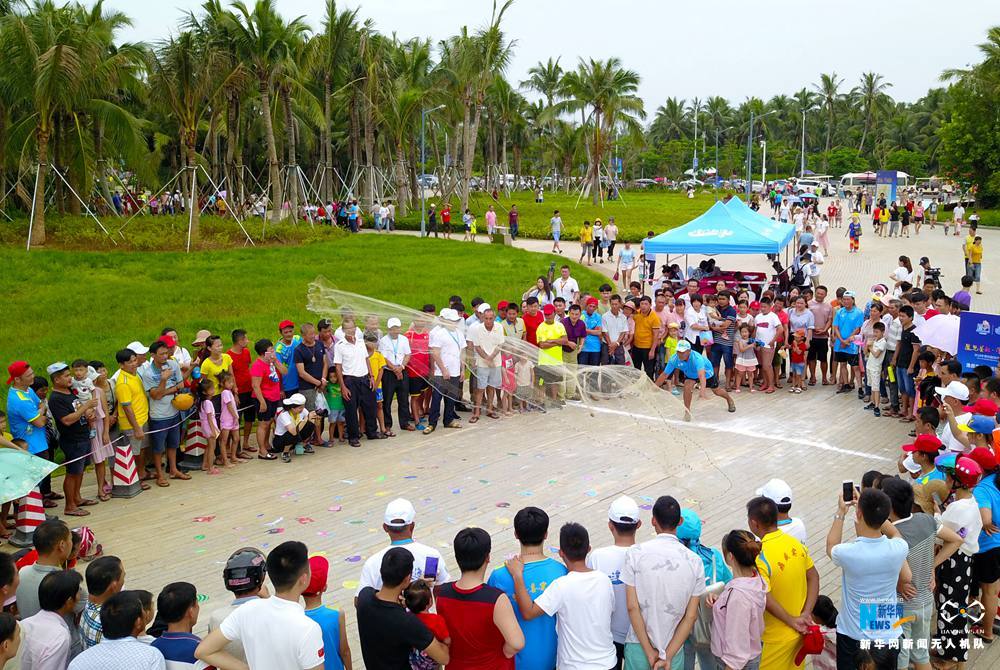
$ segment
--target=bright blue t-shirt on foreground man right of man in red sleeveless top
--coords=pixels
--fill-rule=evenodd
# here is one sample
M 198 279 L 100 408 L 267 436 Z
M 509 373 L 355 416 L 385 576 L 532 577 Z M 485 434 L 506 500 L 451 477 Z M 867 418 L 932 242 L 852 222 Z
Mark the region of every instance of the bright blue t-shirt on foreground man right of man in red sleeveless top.
M 551 558 L 524 565 L 524 585 L 531 599 L 542 595 L 549 584 L 566 574 L 566 566 Z M 552 670 L 556 667 L 556 620 L 548 615 L 531 621 L 521 618 L 514 598 L 514 580 L 507 568 L 497 568 L 487 582 L 507 594 L 514 605 L 517 623 L 524 632 L 524 649 L 515 657 L 517 670 Z

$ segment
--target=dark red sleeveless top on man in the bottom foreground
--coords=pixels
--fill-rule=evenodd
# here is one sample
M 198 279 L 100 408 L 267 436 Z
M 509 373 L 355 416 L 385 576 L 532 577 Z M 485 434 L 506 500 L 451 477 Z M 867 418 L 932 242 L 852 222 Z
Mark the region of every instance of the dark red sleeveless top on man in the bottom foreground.
M 493 623 L 503 591 L 486 584 L 464 590 L 450 582 L 435 593 L 438 614 L 451 632 L 448 670 L 513 670 L 514 659 L 504 656 L 503 635 Z

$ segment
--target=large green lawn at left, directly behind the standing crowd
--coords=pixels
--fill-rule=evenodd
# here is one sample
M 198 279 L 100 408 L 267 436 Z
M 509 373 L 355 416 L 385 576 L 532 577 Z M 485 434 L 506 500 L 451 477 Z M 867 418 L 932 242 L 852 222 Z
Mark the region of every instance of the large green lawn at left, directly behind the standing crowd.
M 24 359 L 38 371 L 56 360 L 100 359 L 165 326 L 185 346 L 195 331 L 277 339 L 282 319 L 315 321 L 306 289 L 325 276 L 339 289 L 419 308 L 459 294 L 492 303 L 519 299 L 549 258 L 519 249 L 410 236 L 344 236 L 301 246 L 232 251 L 86 252 L 0 248 L 0 362 Z M 573 266 L 585 290 L 605 280 Z

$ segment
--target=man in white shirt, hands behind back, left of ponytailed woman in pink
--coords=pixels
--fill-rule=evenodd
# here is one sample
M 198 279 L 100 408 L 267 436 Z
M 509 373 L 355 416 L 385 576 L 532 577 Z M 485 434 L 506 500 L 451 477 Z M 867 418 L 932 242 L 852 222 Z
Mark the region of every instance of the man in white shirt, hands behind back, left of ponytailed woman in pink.
M 660 496 L 652 521 L 656 537 L 629 547 L 621 574 L 632 623 L 626 666 L 653 667 L 663 660 L 670 667 L 694 628 L 705 593 L 701 558 L 677 539 L 680 505 L 672 496 Z

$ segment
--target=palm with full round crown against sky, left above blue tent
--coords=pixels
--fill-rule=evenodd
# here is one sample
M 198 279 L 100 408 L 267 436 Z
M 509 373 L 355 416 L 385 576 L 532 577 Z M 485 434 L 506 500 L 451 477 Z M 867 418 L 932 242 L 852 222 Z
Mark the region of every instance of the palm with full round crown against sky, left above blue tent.
M 581 59 L 576 70 L 566 74 L 564 91 L 567 100 L 557 103 L 560 111 L 584 114 L 584 124 L 591 134 L 588 142 L 587 179 L 594 205 L 601 200 L 601 165 L 610 146 L 610 135 L 622 127 L 640 133 L 640 119 L 646 118 L 642 99 L 636 95 L 639 75 L 622 67 L 617 58 L 606 61 Z

